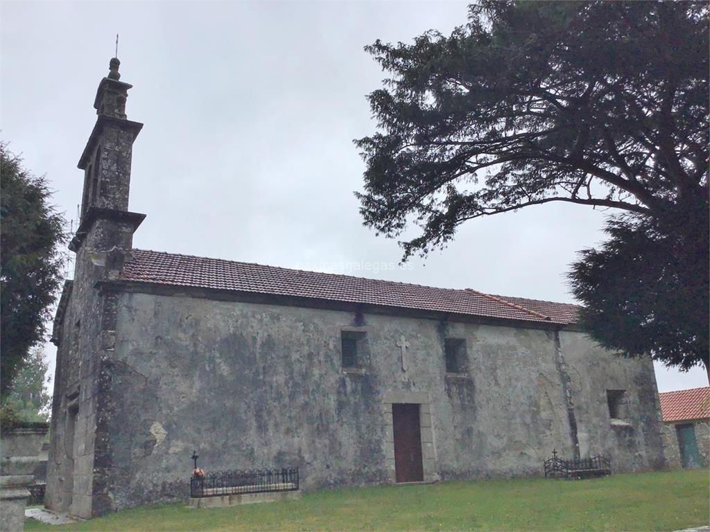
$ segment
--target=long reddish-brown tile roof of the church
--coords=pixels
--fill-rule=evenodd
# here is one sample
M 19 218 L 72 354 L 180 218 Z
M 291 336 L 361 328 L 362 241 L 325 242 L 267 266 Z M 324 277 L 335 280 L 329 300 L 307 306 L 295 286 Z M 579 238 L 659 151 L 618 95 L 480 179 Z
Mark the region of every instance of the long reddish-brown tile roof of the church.
M 365 279 L 349 275 L 290 270 L 249 262 L 209 259 L 150 250 L 133 250 L 123 279 L 132 282 L 306 297 L 350 303 L 468 314 L 567 325 L 576 322 L 575 305 L 501 297 L 472 289 Z

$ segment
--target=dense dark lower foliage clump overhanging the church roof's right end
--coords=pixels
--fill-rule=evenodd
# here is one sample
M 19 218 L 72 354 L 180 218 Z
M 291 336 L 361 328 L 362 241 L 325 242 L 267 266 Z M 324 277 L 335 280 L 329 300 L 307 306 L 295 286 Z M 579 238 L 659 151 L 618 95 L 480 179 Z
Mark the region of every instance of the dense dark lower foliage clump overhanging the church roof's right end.
M 569 278 L 584 301 L 582 323 L 602 345 L 626 356 L 650 353 L 688 370 L 710 367 L 707 211 L 686 227 L 645 216 L 611 219 L 611 238 L 580 253 Z M 696 231 L 688 231 L 688 229 Z

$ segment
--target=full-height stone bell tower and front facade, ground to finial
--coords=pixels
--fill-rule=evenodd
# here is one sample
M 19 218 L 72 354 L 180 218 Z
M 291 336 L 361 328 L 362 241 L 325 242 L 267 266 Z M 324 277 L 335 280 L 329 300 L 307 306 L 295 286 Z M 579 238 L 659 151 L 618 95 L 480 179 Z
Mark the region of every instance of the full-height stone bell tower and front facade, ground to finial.
M 45 505 L 82 518 L 113 509 L 114 281 L 132 260 L 133 233 L 146 217 L 128 210 L 133 142 L 143 124 L 126 118 L 131 85 L 120 81 L 119 64 L 111 59 L 94 99 L 97 120 L 79 160 L 81 222 L 69 245 L 77 255 L 74 279 L 65 282 L 52 336 L 57 365 Z

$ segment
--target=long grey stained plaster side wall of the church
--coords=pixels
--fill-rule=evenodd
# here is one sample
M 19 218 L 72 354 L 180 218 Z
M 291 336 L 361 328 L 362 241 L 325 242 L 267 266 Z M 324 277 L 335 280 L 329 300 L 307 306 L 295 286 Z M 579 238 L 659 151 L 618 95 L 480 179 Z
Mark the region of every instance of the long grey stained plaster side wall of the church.
M 398 394 L 425 405 L 427 480 L 540 474 L 553 448 L 572 456 L 575 434 L 583 456 L 611 455 L 615 471 L 662 465 L 650 361 L 615 358 L 582 333 L 118 298 L 102 433 L 113 509 L 184 497 L 193 449 L 208 470 L 297 465 L 305 488 L 390 482 L 387 405 Z M 367 333 L 359 370 L 342 370 L 344 328 Z M 445 372 L 446 336 L 466 338 L 468 375 Z M 622 428 L 606 389 L 628 392 Z

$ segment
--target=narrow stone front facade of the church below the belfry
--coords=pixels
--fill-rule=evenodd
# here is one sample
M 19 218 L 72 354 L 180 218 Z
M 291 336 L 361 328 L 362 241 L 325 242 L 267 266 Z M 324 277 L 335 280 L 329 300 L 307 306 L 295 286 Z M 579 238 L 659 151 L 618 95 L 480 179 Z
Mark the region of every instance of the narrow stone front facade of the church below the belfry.
M 130 160 L 119 159 L 119 164 L 130 170 Z M 87 213 L 87 218 L 91 216 Z M 45 506 L 84 518 L 113 507 L 109 497 L 113 465 L 106 448 L 111 401 L 104 391 L 113 371 L 118 296 L 100 283 L 119 275 L 131 250 L 133 221 L 121 216 L 102 212 L 89 227 L 81 226 L 87 233 L 77 245 L 75 280 L 55 331 L 58 351 Z

